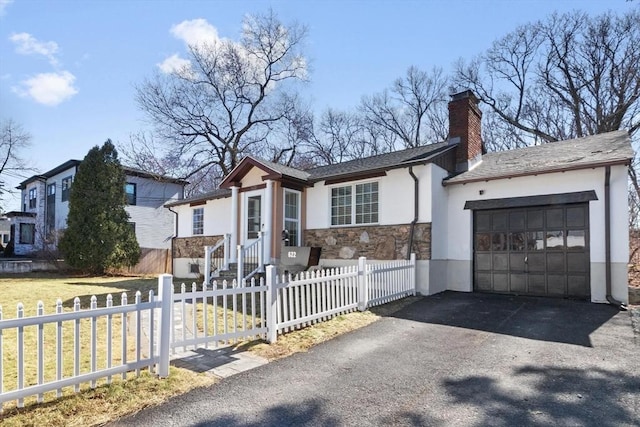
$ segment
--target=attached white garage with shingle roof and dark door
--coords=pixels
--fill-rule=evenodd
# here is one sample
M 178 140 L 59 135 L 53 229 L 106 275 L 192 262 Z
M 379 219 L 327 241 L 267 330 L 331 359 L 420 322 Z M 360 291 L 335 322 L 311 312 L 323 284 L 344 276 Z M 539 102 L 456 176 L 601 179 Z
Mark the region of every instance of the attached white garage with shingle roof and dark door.
M 433 252 L 446 261 L 432 260 L 434 282 L 625 304 L 632 157 L 629 135 L 617 131 L 474 158 L 443 181 L 446 216 L 432 228 L 443 248 Z

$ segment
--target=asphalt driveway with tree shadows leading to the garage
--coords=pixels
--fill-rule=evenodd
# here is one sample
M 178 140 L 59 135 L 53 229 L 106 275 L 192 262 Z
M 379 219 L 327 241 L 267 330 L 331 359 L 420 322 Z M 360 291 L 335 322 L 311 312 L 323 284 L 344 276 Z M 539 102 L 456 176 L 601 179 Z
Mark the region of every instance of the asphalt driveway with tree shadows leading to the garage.
M 639 339 L 607 305 L 445 292 L 114 425 L 637 426 Z

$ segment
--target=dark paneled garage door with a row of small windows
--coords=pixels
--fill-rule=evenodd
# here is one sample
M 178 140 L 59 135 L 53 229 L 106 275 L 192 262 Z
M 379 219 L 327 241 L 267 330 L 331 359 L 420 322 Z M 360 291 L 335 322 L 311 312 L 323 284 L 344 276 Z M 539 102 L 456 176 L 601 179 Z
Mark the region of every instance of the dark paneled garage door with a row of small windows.
M 474 211 L 474 289 L 587 298 L 588 203 Z

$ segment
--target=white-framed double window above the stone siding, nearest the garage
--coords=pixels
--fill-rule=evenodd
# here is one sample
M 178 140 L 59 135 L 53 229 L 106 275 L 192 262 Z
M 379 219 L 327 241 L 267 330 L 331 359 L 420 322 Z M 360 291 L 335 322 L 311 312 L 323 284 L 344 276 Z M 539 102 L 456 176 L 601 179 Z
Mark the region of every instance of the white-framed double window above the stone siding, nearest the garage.
M 331 225 L 375 224 L 377 222 L 377 182 L 331 189 Z

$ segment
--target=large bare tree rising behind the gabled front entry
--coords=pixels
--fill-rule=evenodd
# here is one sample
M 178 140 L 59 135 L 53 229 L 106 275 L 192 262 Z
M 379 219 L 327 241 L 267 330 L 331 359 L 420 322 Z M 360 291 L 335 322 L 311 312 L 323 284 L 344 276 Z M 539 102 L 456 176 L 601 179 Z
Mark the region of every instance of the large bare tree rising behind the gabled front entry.
M 264 149 L 295 108 L 295 82 L 307 77 L 306 28 L 284 25 L 273 12 L 248 16 L 242 28 L 239 42 L 192 45 L 188 65 L 137 87 L 160 158 L 180 165 L 182 178 L 213 169 L 226 175 L 242 156 Z

